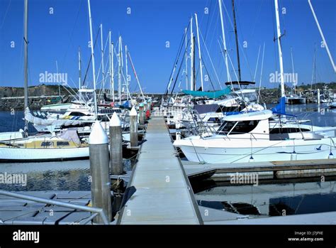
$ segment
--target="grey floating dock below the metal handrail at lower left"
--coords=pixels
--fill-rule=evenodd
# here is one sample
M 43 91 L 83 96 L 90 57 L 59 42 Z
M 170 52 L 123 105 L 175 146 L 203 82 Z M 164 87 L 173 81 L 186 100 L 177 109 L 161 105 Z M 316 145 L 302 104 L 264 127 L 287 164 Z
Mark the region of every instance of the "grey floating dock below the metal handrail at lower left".
M 90 191 L 26 191 L 22 195 L 56 200 L 86 207 Z M 0 224 L 4 225 L 84 225 L 91 224 L 91 212 L 32 200 L 0 195 Z

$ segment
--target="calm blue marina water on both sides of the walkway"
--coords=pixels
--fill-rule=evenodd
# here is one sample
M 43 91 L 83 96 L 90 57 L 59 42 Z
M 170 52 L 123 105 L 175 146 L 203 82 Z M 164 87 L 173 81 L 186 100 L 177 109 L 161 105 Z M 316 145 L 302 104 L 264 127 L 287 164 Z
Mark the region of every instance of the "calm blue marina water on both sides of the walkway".
M 274 107 L 269 104 L 267 107 Z M 316 126 L 335 126 L 336 110 L 323 104 L 288 105 L 286 111 L 298 119 L 310 119 Z M 0 131 L 23 127 L 23 112 L 0 112 Z M 33 132 L 33 127 L 30 126 Z M 131 169 L 124 161 L 125 170 Z M 23 173 L 26 185 L 1 184 L 6 190 L 90 190 L 89 160 L 48 163 L 0 163 L 1 173 Z M 216 185 L 217 184 L 217 185 Z M 270 185 L 218 185 L 196 191 L 200 205 L 249 215 L 287 215 L 336 211 L 336 180 L 325 183 L 277 183 Z M 194 185 L 193 185 L 194 186 Z

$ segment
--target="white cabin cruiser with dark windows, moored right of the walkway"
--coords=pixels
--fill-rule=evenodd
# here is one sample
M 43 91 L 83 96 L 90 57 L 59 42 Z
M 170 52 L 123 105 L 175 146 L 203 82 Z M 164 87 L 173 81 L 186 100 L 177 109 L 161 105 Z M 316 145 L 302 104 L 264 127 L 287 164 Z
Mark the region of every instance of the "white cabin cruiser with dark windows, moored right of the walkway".
M 336 127 L 274 124 L 270 110 L 233 114 L 223 121 L 215 134 L 189 136 L 174 146 L 198 163 L 326 159 L 335 153 Z

